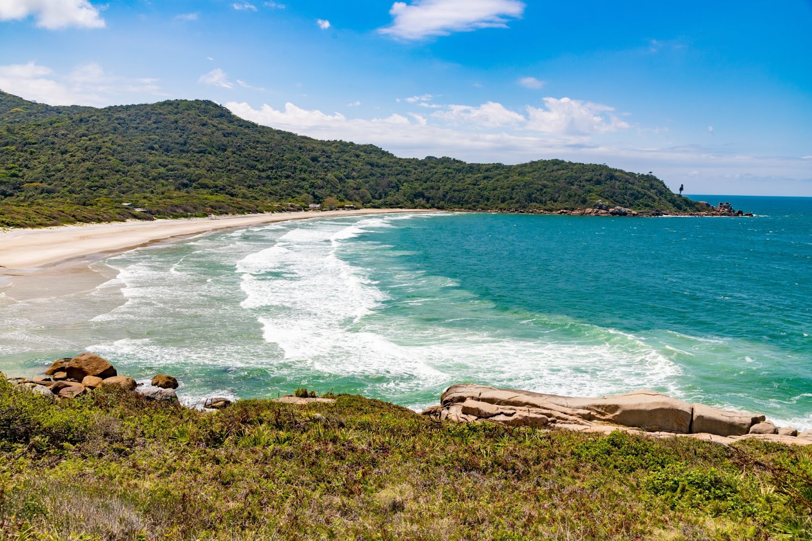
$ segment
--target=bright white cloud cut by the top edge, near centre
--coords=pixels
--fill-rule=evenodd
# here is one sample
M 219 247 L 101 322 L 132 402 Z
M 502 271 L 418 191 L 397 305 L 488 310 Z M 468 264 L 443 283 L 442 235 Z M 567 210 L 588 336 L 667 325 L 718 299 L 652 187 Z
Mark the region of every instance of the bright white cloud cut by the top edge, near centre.
M 477 28 L 507 28 L 508 19 L 520 17 L 525 4 L 518 0 L 414 0 L 395 2 L 392 24 L 378 32 L 406 40 L 447 36 Z

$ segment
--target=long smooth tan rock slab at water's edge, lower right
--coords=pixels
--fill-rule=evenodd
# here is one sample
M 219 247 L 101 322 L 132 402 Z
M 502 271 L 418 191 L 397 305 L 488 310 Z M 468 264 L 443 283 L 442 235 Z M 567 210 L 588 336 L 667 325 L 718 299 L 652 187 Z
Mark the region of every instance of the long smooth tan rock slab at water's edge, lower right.
M 441 405 L 425 409 L 422 414 L 438 420 L 499 422 L 587 433 L 622 430 L 654 437 L 685 435 L 720 444 L 731 444 L 741 438 L 812 444 L 812 431 L 795 437 L 795 429 L 779 431 L 763 415 L 689 405 L 684 400 L 647 390 L 586 398 L 461 383 L 448 387 L 440 402 Z

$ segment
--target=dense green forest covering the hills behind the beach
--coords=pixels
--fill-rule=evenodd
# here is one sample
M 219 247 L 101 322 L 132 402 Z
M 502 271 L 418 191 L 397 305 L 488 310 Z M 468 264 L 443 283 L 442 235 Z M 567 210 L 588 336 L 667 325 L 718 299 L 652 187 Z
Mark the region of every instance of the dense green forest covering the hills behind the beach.
M 574 210 L 603 200 L 698 210 L 654 175 L 604 165 L 404 159 L 258 126 L 214 102 L 50 107 L 0 92 L 0 226 L 268 211 L 328 197 L 383 208 Z

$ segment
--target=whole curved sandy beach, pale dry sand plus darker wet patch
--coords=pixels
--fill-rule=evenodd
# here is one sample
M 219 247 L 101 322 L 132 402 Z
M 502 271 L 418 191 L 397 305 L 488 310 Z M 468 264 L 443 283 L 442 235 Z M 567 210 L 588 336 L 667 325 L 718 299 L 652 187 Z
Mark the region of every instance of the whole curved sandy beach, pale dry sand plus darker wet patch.
M 10 229 L 0 232 L 0 291 L 17 301 L 86 291 L 111 277 L 110 269 L 93 265 L 98 259 L 162 240 L 286 220 L 403 212 L 426 211 L 326 210 Z

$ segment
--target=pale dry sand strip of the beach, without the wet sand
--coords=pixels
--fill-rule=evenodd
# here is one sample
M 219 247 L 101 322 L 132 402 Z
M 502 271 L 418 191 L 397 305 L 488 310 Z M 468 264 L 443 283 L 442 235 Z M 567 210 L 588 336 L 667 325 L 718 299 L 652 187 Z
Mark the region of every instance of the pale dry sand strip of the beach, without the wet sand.
M 16 275 L 17 273 L 13 272 L 15 270 L 32 269 L 32 267 L 41 267 L 91 254 L 120 252 L 147 245 L 156 240 L 197 235 L 218 229 L 248 227 L 294 219 L 395 212 L 425 212 L 425 210 L 326 210 L 324 212 L 221 216 L 218 219 L 175 219 L 153 222 L 93 223 L 43 229 L 11 229 L 0 232 L 0 266 L 5 267 L 0 269 L 0 275 Z

